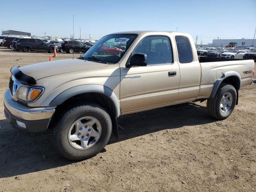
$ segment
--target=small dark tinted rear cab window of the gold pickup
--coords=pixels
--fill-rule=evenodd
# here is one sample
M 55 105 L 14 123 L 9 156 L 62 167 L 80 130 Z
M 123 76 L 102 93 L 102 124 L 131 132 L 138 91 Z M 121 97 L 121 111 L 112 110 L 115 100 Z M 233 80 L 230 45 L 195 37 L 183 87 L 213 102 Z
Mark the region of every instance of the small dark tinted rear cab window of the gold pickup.
M 193 52 L 190 41 L 186 36 L 175 36 L 180 63 L 191 63 L 193 61 Z

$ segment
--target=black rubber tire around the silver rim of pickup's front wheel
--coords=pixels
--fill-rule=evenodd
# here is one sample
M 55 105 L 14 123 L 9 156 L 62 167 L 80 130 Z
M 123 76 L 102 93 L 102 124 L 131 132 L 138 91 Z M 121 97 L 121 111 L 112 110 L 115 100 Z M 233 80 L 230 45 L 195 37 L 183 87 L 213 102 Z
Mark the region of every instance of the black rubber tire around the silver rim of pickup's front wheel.
M 60 119 L 55 122 L 55 126 L 52 131 L 52 143 L 53 146 L 56 148 L 56 150 L 60 153 L 60 155 L 68 160 L 83 160 L 87 158 L 91 158 L 98 154 L 102 149 L 106 146 L 108 143 L 111 132 L 112 132 L 112 122 L 109 114 L 106 112 L 104 108 L 99 106 L 98 104 L 89 103 L 89 104 L 78 104 L 76 106 L 71 107 L 70 109 L 66 110 L 63 114 L 61 114 Z M 76 140 L 75 142 L 70 141 L 70 135 L 78 138 L 81 137 L 81 134 L 79 136 L 79 132 L 84 131 L 87 126 L 80 127 L 75 126 L 75 122 L 77 122 L 79 119 L 82 118 L 94 118 L 98 120 L 98 123 L 93 124 L 93 126 L 96 126 L 98 129 L 98 124 L 101 126 L 101 134 L 97 138 L 97 141 L 95 140 L 95 137 L 90 136 L 92 140 L 89 139 L 89 145 L 91 142 L 95 142 L 92 146 L 86 148 L 86 149 L 79 149 L 76 148 L 77 146 L 82 146 L 82 139 Z M 81 120 L 82 121 L 82 120 Z M 80 121 L 80 122 L 81 122 Z M 74 126 L 73 126 L 74 125 Z M 90 127 L 88 126 L 88 130 Z M 76 129 L 75 132 L 71 134 L 72 129 Z M 94 129 L 94 128 L 92 128 Z M 71 130 L 71 131 L 70 131 Z M 77 134 L 76 134 L 77 132 Z M 83 135 L 84 133 L 82 133 Z M 86 132 L 85 132 L 86 134 Z M 86 135 L 85 135 L 86 136 Z M 87 134 L 89 137 L 89 134 Z M 79 145 L 80 142 L 80 145 Z M 78 143 L 78 144 L 76 144 Z M 80 147 L 81 147 L 80 146 Z M 87 144 L 86 144 L 87 146 Z

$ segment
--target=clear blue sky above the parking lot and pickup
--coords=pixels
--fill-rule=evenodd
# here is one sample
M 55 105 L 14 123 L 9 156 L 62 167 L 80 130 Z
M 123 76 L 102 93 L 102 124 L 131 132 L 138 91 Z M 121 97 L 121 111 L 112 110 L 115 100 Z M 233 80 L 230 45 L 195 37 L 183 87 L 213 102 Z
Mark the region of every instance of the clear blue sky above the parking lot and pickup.
M 186 32 L 204 43 L 213 38 L 253 38 L 256 0 L 5 0 L 0 30 L 93 39 L 127 30 Z M 88 38 L 88 35 L 87 35 Z

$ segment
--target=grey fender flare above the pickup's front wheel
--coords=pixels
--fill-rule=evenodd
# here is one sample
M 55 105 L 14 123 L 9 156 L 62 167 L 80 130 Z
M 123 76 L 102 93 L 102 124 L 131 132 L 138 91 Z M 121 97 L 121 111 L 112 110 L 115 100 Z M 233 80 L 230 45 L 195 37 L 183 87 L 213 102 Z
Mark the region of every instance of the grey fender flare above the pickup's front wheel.
M 62 106 L 74 99 L 80 99 L 84 102 L 95 102 L 106 108 L 114 117 L 120 116 L 120 104 L 116 94 L 110 88 L 98 85 L 88 84 L 79 85 L 65 90 L 56 96 L 50 106 Z

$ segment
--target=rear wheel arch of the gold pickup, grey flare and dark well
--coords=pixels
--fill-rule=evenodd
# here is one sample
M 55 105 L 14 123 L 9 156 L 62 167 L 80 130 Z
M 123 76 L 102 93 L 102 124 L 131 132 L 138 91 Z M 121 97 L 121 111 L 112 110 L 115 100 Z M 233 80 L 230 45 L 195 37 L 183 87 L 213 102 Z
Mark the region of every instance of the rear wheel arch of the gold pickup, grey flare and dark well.
M 236 91 L 238 91 L 241 87 L 241 82 L 242 82 L 241 76 L 238 72 L 236 72 L 236 71 L 225 72 L 221 76 L 221 78 L 216 80 L 216 82 L 214 83 L 212 93 L 210 95 L 210 99 L 214 98 L 214 96 L 216 95 L 216 92 L 218 91 L 218 88 L 219 88 L 221 83 L 230 84 L 230 85 L 234 86 Z

